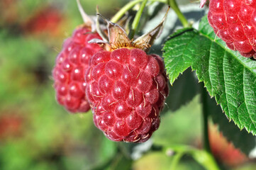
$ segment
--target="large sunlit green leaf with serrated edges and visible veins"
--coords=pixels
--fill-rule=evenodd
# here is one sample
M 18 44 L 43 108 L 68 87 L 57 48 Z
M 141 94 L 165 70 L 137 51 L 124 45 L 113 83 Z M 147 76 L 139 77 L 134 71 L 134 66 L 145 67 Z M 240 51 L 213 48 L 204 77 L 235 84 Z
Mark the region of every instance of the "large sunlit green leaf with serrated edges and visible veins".
M 165 43 L 165 65 L 172 84 L 185 69 L 196 70 L 199 81 L 221 104 L 229 120 L 256 134 L 256 62 L 226 48 L 204 17 L 199 31 L 178 30 Z

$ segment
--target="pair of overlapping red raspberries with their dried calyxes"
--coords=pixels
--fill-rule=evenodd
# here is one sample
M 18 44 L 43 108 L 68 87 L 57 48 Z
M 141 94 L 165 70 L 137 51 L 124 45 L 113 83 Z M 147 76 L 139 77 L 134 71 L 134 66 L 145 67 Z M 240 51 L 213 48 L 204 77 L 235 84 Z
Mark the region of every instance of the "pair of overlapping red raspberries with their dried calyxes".
M 136 40 L 102 17 L 107 31 L 96 27 L 102 40 L 91 33 L 97 24 L 77 3 L 86 26 L 74 31 L 57 56 L 52 71 L 57 101 L 72 113 L 91 108 L 94 124 L 110 140 L 145 142 L 159 127 L 160 111 L 169 94 L 164 62 L 145 52 L 161 33 L 167 14 Z

